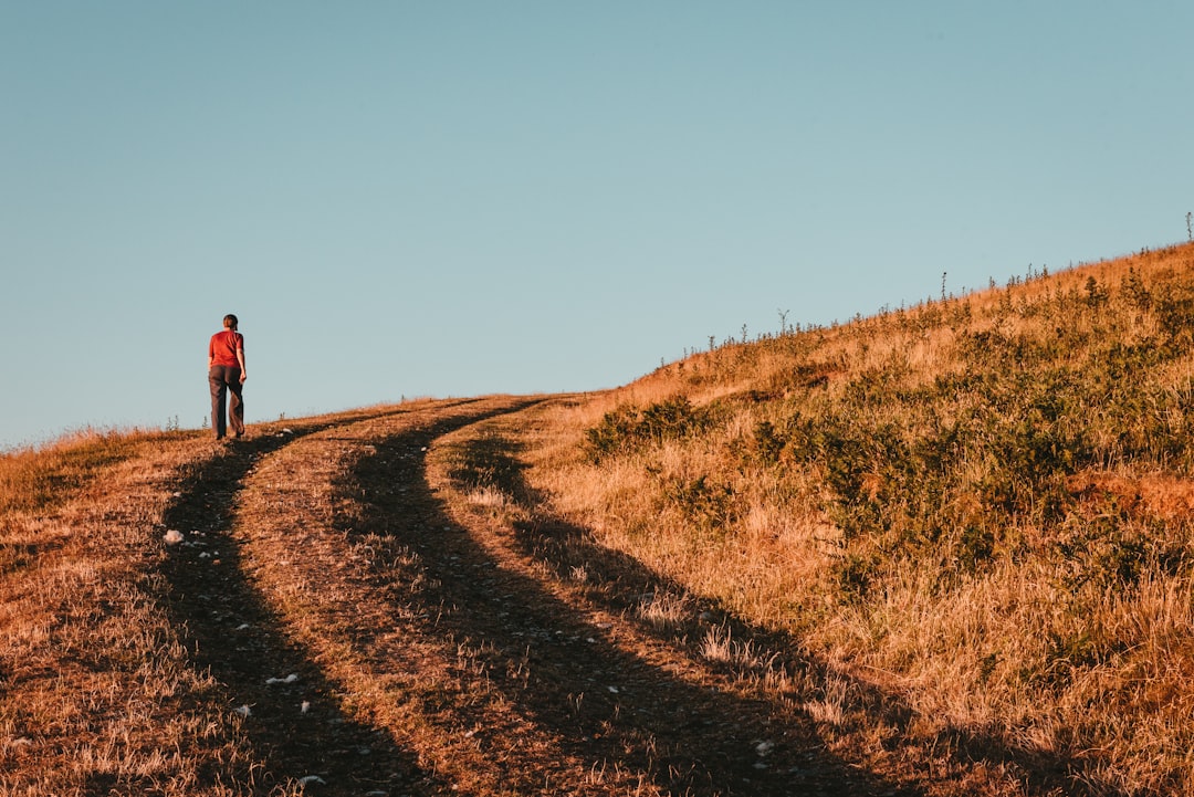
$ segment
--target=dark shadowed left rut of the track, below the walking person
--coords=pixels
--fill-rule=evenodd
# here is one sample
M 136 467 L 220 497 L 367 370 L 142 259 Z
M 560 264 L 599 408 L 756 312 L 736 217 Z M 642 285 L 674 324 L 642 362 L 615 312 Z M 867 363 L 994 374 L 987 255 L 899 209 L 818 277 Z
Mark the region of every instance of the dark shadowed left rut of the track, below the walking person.
M 252 784 L 253 793 L 263 795 L 302 778 L 319 779 L 304 787 L 312 795 L 448 795 L 451 789 L 421 770 L 411 752 L 351 718 L 336 686 L 288 640 L 279 618 L 246 579 L 229 533 L 236 494 L 253 463 L 331 426 L 230 445 L 186 480 L 165 514 L 167 527 L 183 531 L 187 540 L 171 549 L 162 567 L 172 622 L 196 666 L 223 686 L 230 719 L 241 722 L 254 758 L 264 764 L 257 772 L 227 772 L 211 764 L 201 778 Z M 242 706 L 250 713 L 236 721 Z

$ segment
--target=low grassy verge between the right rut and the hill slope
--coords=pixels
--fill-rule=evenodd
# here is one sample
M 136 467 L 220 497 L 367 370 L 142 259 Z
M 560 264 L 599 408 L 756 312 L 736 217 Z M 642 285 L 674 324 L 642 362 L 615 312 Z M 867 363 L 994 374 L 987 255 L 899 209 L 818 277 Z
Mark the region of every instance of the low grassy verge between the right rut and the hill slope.
M 587 606 L 592 617 L 602 618 L 613 626 L 624 626 L 623 637 L 634 640 L 630 645 L 639 651 L 654 649 L 652 659 L 660 667 L 681 678 L 703 682 L 708 682 L 710 675 L 696 671 L 712 669 L 712 678 L 720 680 L 719 688 L 745 694 L 745 700 L 734 709 L 734 716 L 753 712 L 756 730 L 751 736 L 762 737 L 764 729 L 786 724 L 793 735 L 799 737 L 802 733 L 807 743 L 817 731 L 794 703 L 823 698 L 827 684 L 839 684 L 844 693 L 839 698 L 843 717 L 838 733 L 847 727 L 860 730 L 884 727 L 898 734 L 909 747 L 931 746 L 938 755 L 948 756 L 944 766 L 911 758 L 897 764 L 899 752 L 896 746 L 887 747 L 893 754 L 893 764 L 897 764 L 892 768 L 900 771 L 905 784 L 922 783 L 933 793 L 971 793 L 974 786 L 967 786 L 967 781 L 977 784 L 984 778 L 1016 783 L 1016 792 L 1024 795 L 1055 795 L 1073 789 L 1073 774 L 1082 771 L 1082 764 L 1072 759 L 1051 759 L 961 729 L 917 740 L 916 712 L 900 696 L 885 693 L 862 680 L 835 672 L 823 660 L 802 654 L 799 643 L 787 635 L 752 625 L 724 612 L 713 601 L 688 595 L 681 585 L 648 570 L 633 557 L 601 546 L 587 529 L 541 511 L 546 496 L 537 495 L 528 484 L 524 465 L 519 461 L 519 440 L 527 435 L 533 422 L 529 414 L 523 413 L 517 420 L 496 419 L 441 441 L 456 450 L 450 464 L 448 457 L 441 457 L 448 467 L 442 467 L 433 481 L 438 481 L 443 489 L 468 492 L 481 488 L 482 498 L 487 492 L 497 490 L 518 507 L 518 512 L 511 513 L 513 517 L 500 523 L 486 518 L 485 512 L 473 512 L 473 519 L 462 523 L 469 525 L 474 538 L 496 555 L 501 556 L 503 550 L 515 554 L 525 572 L 531 573 L 544 588 L 561 594 L 566 604 Z M 486 527 L 490 530 L 484 531 Z M 684 610 L 684 619 L 670 620 L 667 625 L 671 628 L 667 629 L 641 618 L 644 605 L 652 604 L 659 594 L 667 595 L 673 606 L 682 605 Z M 753 655 L 743 656 L 745 662 L 710 663 L 702 651 L 709 640 L 724 641 L 726 647 L 731 647 L 732 642 L 737 650 Z M 624 649 L 627 643 L 622 642 L 621 647 Z M 733 655 L 728 657 L 733 659 Z M 677 665 L 677 661 L 693 666 Z M 773 682 L 762 690 L 744 684 L 774 681 L 776 679 L 771 676 L 775 674 L 778 674 L 777 680 L 788 684 L 776 688 Z M 744 685 L 746 688 L 740 688 Z M 673 703 L 675 716 L 700 711 L 700 708 L 684 700 Z M 647 718 L 650 721 L 650 716 Z M 771 737 L 775 736 L 773 733 Z M 768 768 L 783 766 L 780 764 L 783 752 L 783 748 L 770 749 L 765 761 Z M 799 785 L 800 793 L 918 793 L 915 786 L 897 786 L 882 778 L 862 779 L 853 767 L 843 773 L 839 762 L 829 754 L 808 754 L 806 758 L 813 764 L 789 764 L 789 772 L 798 776 L 790 780 L 789 787 Z M 750 779 L 749 774 L 743 777 Z M 851 785 L 838 792 L 847 784 Z M 747 790 L 744 793 L 767 792 Z

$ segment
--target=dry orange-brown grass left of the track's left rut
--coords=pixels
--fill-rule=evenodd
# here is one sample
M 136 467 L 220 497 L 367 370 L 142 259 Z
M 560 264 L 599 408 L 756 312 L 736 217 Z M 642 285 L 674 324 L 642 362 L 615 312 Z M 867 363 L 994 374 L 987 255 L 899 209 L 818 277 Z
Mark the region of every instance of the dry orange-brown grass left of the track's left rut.
M 155 603 L 164 477 L 186 435 L 86 434 L 4 461 L 0 791 L 250 793 L 253 755 Z

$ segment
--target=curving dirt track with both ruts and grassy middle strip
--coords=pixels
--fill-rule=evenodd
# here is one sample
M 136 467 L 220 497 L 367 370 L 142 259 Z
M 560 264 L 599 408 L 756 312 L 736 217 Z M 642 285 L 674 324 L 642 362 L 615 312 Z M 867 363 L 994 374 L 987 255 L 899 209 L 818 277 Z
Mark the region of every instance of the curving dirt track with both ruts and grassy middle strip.
M 759 687 L 775 673 L 697 655 L 726 618 L 644 620 L 657 593 L 690 599 L 536 514 L 499 422 L 530 403 L 263 435 L 179 486 L 171 616 L 240 710 L 260 787 L 917 793 L 826 754 L 794 692 Z

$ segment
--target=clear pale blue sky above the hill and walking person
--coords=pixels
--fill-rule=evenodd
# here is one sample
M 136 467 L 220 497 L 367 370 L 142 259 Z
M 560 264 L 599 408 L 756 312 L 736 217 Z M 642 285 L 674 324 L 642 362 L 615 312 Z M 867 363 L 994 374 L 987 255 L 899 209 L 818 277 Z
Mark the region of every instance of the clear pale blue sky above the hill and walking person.
M 1187 237 L 1194 4 L 0 0 L 0 447 L 624 384 Z

